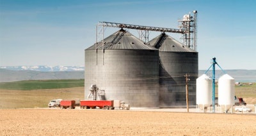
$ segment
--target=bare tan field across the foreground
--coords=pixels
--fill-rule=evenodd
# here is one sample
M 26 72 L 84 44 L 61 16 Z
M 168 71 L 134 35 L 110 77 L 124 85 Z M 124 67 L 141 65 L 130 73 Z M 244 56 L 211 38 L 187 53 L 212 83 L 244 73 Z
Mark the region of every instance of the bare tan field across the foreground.
M 0 109 L 1 135 L 256 135 L 256 114 Z

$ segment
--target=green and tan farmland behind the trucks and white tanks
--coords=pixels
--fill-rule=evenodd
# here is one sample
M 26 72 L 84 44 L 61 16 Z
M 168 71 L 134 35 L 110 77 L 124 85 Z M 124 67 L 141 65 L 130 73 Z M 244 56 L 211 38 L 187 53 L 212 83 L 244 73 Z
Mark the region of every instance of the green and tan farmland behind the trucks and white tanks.
M 236 97 L 256 104 L 256 83 L 235 86 Z M 218 86 L 216 86 L 216 97 Z M 84 79 L 0 83 L 0 109 L 47 107 L 52 99 L 84 99 Z

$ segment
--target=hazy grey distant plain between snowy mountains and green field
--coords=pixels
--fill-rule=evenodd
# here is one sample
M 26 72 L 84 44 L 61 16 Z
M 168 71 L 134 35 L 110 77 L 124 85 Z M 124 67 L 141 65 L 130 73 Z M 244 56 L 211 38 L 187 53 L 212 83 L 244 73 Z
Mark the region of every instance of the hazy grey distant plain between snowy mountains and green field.
M 199 70 L 198 76 L 205 73 L 206 70 Z M 241 83 L 256 83 L 256 70 L 226 70 L 227 74 Z M 220 78 L 224 73 L 216 70 L 216 78 Z M 212 71 L 207 72 L 211 77 Z M 84 71 L 58 71 L 58 72 L 41 72 L 41 71 L 10 71 L 0 69 L 0 83 L 12 81 L 27 80 L 60 80 L 60 79 L 84 79 Z

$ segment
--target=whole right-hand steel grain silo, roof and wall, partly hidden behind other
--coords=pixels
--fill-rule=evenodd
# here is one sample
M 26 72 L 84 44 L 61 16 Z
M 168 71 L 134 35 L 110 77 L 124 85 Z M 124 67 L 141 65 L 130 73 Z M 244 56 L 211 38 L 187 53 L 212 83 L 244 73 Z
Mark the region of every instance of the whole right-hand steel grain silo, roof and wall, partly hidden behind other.
M 159 49 L 160 106 L 186 105 L 185 74 L 190 75 L 189 105 L 195 105 L 198 53 L 164 33 L 148 43 Z

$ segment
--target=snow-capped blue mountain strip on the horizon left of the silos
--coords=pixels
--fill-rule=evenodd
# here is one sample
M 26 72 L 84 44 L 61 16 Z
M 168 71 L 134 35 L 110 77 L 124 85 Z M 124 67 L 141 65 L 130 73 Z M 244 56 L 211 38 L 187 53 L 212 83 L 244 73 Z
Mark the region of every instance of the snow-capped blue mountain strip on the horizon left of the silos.
M 12 71 L 84 71 L 83 66 L 47 66 L 47 65 L 34 65 L 34 66 L 0 66 L 0 69 L 8 69 Z

